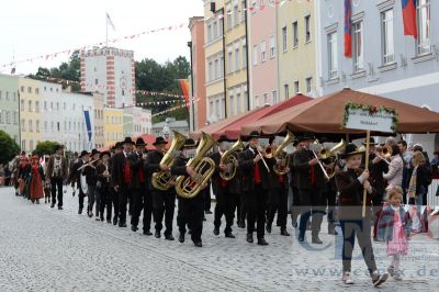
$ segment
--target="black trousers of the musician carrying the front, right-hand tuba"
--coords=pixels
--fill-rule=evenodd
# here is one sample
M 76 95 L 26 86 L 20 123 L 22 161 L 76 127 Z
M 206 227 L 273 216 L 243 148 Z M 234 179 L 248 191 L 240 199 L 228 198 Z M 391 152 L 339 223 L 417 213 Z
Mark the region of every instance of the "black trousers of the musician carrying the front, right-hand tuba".
M 180 233 L 185 233 L 185 226 L 191 228 L 191 239 L 193 243 L 201 243 L 204 217 L 204 196 L 199 193 L 195 198 L 179 198 L 177 224 Z

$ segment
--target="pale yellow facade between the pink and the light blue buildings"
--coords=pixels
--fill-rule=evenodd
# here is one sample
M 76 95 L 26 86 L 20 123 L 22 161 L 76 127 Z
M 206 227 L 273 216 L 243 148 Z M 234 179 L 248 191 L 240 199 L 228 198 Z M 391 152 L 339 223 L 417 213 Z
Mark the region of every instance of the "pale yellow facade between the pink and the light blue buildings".
M 314 1 L 277 5 L 280 100 L 297 92 L 315 97 L 317 86 Z

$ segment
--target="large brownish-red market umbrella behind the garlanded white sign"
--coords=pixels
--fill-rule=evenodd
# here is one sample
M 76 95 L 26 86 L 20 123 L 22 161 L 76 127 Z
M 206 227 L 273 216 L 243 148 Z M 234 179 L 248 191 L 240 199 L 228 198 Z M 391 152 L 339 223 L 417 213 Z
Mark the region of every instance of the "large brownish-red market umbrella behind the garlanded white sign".
M 348 130 L 341 126 L 345 106 L 348 102 L 395 109 L 398 119 L 397 133 L 439 132 L 439 113 L 437 112 L 350 89 L 304 102 L 258 122 L 244 125 L 241 132 L 243 135 L 248 135 L 251 131 L 271 135 L 283 133 L 286 130 L 292 132 L 361 134 L 362 131 Z

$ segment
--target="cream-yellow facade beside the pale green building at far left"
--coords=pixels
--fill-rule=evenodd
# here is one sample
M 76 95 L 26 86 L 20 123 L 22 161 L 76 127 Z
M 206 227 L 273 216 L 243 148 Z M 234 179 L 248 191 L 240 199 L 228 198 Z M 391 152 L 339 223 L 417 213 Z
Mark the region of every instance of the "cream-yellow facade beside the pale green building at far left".
M 21 149 L 31 153 L 42 141 L 40 81 L 19 78 Z

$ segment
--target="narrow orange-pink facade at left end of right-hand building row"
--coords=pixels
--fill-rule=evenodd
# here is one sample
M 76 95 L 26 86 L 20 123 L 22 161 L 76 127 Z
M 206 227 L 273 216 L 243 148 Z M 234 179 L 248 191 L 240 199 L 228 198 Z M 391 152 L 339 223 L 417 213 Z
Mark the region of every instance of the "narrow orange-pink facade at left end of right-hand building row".
M 205 126 L 206 114 L 206 88 L 205 88 L 205 53 L 204 53 L 204 18 L 191 18 L 189 22 L 191 31 L 191 61 L 192 74 L 190 77 L 190 92 L 195 101 L 191 104 L 191 130 Z M 193 108 L 192 108 L 193 105 Z M 194 124 L 194 127 L 192 125 Z

